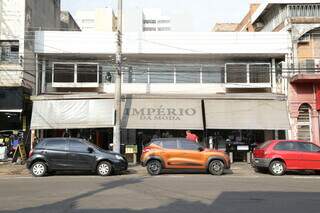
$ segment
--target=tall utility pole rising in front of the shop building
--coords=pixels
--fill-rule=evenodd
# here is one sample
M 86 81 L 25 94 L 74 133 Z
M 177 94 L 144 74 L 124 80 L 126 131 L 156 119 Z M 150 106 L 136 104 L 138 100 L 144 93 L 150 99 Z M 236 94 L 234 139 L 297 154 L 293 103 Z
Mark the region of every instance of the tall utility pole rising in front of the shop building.
M 120 153 L 121 144 L 121 72 L 122 72 L 122 0 L 118 0 L 118 19 L 117 19 L 117 53 L 116 53 L 115 73 L 115 125 L 113 128 L 113 151 Z

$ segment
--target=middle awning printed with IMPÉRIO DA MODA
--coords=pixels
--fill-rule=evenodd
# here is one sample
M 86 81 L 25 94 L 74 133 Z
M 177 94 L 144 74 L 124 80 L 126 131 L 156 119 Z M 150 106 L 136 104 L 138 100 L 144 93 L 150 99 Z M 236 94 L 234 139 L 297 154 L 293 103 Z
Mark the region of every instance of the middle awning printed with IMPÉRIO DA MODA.
M 203 129 L 200 100 L 126 99 L 122 104 L 122 128 Z

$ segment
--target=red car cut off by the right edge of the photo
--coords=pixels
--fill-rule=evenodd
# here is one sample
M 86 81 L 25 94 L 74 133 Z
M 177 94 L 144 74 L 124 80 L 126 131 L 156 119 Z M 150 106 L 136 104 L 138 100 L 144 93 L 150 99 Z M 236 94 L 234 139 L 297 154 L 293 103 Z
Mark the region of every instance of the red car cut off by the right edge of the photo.
M 253 166 L 269 169 L 273 175 L 284 175 L 287 170 L 320 171 L 320 147 L 305 141 L 271 140 L 253 151 Z

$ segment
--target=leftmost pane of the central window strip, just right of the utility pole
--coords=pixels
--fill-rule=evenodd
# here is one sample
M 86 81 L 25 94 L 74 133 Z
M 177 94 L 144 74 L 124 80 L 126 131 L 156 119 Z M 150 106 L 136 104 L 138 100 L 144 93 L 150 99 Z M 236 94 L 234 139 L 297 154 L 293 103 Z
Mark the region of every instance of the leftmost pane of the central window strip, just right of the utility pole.
M 128 66 L 124 69 L 124 83 L 148 83 L 148 67 Z

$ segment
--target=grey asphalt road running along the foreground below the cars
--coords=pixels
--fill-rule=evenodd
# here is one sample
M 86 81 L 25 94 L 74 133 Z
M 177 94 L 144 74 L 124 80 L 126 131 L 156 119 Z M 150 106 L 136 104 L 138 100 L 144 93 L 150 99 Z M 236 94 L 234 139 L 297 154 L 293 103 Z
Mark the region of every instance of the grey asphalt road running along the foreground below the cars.
M 0 212 L 319 211 L 320 176 L 316 175 L 0 176 Z

